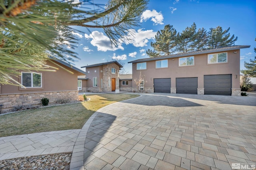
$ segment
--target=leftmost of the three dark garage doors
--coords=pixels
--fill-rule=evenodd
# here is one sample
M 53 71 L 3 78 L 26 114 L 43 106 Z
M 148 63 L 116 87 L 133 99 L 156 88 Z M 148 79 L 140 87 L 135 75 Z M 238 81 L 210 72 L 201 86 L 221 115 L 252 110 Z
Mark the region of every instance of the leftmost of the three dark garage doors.
M 154 78 L 155 93 L 171 93 L 171 78 Z

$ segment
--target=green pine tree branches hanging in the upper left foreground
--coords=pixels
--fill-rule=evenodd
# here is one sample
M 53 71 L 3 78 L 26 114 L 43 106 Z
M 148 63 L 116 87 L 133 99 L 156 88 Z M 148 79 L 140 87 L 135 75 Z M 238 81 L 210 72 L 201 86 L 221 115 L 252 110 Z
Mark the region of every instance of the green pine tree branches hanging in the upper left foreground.
M 0 84 L 20 70 L 45 69 L 49 56 L 69 62 L 77 42 L 70 26 L 103 28 L 112 45 L 140 23 L 148 0 L 2 0 L 0 3 Z M 16 82 L 17 83 L 17 82 Z

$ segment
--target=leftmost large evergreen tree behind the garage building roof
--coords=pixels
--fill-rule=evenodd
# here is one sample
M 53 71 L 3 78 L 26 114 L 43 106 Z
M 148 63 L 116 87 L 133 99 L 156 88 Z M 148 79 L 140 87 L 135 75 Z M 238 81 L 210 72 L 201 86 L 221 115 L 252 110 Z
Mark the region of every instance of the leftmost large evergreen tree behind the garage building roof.
M 155 35 L 156 42 L 151 42 L 154 50 L 148 49 L 146 53 L 150 57 L 159 55 L 170 55 L 175 52 L 177 31 L 172 25 L 165 25 L 164 29 L 158 31 Z

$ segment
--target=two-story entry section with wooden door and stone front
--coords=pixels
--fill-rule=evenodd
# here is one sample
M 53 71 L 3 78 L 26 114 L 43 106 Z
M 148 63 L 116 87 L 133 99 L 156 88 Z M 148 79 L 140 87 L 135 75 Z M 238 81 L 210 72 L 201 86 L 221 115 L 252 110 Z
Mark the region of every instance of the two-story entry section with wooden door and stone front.
M 119 92 L 119 70 L 123 66 L 117 61 L 98 63 L 86 68 L 86 86 L 82 85 L 83 92 Z

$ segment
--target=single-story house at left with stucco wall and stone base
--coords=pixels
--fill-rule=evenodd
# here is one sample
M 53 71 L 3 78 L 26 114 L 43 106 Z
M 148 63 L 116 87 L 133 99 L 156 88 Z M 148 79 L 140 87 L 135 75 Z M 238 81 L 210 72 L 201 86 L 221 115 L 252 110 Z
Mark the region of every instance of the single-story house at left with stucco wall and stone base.
M 46 65 L 56 71 L 21 72 L 13 77 L 24 87 L 0 84 L 0 104 L 3 110 L 13 107 L 41 104 L 40 99 L 48 98 L 49 103 L 78 100 L 77 77 L 86 72 L 56 59 L 48 59 Z

